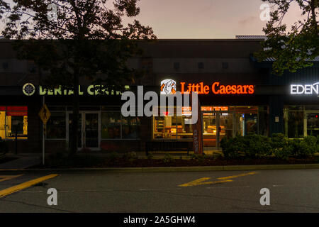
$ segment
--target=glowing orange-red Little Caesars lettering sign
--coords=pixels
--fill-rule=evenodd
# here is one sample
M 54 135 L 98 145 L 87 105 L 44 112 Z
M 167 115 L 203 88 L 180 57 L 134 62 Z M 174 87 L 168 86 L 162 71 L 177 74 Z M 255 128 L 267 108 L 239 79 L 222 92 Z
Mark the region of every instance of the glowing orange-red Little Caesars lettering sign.
M 203 84 L 187 84 L 181 82 L 181 94 L 196 92 L 198 94 L 254 94 L 254 85 L 224 85 L 220 82 L 214 82 L 211 87 Z

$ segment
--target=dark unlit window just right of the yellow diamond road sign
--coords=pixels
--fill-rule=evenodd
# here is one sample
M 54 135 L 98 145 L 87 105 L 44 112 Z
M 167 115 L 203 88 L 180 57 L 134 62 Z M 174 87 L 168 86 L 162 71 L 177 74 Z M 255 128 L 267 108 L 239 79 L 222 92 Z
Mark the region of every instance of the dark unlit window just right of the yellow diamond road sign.
M 51 112 L 47 121 L 47 139 L 65 139 L 65 112 Z

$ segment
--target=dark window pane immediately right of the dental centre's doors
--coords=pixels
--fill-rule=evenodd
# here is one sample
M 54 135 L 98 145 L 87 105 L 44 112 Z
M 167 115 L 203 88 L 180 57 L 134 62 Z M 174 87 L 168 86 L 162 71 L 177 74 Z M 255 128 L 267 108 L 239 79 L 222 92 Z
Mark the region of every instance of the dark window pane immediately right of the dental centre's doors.
M 102 112 L 102 139 L 121 139 L 121 112 Z

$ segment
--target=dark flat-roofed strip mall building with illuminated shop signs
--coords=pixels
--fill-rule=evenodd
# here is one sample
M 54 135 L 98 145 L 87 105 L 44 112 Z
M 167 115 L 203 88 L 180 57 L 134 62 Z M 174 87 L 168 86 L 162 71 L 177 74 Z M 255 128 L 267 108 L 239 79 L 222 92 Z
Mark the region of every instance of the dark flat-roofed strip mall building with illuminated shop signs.
M 257 62 L 262 37 L 238 36 L 228 40 L 158 40 L 140 43 L 142 57 L 131 67 L 145 70 L 149 91 L 198 92 L 203 118 L 204 150 L 219 147 L 225 136 L 284 133 L 289 138 L 319 135 L 319 62 L 282 77 L 271 73 L 272 60 Z M 40 91 L 40 76 L 33 62 L 17 60 L 11 41 L 0 40 L 0 137 L 14 140 L 18 153 L 42 151 L 42 122 L 38 112 L 50 110 L 45 147 L 65 150 L 72 126 L 72 96 Z M 25 84 L 35 93 L 23 94 Z M 173 86 L 172 86 L 173 85 Z M 25 92 L 30 87 L 25 86 Z M 79 149 L 145 150 L 150 140 L 192 141 L 187 109 L 183 116 L 123 117 L 121 95 L 95 95 L 90 83 L 81 82 Z M 162 91 L 161 91 L 162 90 Z M 123 101 L 122 101 L 123 102 Z M 17 132 L 17 133 L 16 133 Z M 14 150 L 14 142 L 10 143 Z

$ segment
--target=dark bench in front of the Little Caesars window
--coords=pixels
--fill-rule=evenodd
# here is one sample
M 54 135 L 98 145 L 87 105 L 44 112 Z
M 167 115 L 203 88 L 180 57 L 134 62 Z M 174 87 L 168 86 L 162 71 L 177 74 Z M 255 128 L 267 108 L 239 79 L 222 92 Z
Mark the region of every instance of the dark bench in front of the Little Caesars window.
M 145 143 L 146 155 L 152 153 L 169 153 L 174 151 L 184 151 L 189 155 L 193 142 L 179 140 L 151 140 Z

